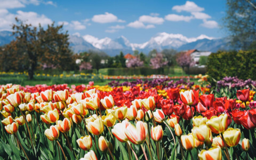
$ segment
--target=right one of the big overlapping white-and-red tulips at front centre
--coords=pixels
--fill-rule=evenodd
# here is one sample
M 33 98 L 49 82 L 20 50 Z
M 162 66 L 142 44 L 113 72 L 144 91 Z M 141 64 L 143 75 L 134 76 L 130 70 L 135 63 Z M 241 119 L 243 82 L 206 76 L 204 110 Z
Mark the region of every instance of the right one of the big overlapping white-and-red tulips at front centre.
M 136 126 L 130 124 L 125 129 L 126 137 L 135 145 L 141 144 L 146 140 L 148 135 L 147 123 L 138 121 Z

